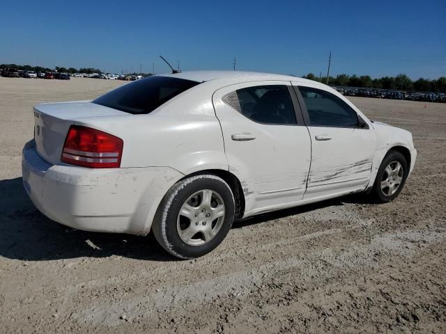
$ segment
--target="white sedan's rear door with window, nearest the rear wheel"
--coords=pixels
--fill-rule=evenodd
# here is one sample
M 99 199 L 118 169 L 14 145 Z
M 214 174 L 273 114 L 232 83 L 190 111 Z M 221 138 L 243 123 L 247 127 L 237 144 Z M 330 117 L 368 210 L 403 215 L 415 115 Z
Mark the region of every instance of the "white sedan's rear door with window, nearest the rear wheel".
M 256 81 L 213 95 L 232 173 L 242 182 L 245 215 L 302 200 L 311 141 L 289 81 Z

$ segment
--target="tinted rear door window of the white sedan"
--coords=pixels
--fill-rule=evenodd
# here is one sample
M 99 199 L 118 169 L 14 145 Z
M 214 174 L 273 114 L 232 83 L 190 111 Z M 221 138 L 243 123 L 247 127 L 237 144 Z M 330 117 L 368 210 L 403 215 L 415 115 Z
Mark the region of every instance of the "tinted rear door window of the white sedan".
M 287 86 L 254 86 L 236 90 L 236 109 L 255 122 L 295 125 L 295 111 Z

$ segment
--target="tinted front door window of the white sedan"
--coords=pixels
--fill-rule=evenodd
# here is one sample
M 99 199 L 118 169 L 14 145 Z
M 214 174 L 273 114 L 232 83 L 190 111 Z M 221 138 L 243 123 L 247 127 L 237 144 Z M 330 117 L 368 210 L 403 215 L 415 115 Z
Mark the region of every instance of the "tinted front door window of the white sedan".
M 325 90 L 299 87 L 311 125 L 320 127 L 357 127 L 357 113 L 346 102 Z

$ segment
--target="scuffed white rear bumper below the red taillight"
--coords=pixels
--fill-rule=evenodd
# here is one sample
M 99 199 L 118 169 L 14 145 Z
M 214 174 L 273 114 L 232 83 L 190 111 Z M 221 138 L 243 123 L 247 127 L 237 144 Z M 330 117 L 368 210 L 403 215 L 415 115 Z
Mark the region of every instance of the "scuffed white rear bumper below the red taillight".
M 162 197 L 183 174 L 169 167 L 51 165 L 30 141 L 23 149 L 22 176 L 34 205 L 58 223 L 94 232 L 147 234 Z

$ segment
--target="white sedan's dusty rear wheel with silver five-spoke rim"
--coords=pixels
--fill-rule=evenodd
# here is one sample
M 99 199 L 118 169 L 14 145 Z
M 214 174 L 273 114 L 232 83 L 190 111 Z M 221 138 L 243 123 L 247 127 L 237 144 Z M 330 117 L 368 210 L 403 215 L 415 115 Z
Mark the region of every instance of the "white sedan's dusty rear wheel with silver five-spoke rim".
M 224 180 L 213 174 L 194 175 L 169 189 L 157 209 L 152 231 L 171 255 L 201 257 L 223 241 L 234 214 L 233 193 Z

